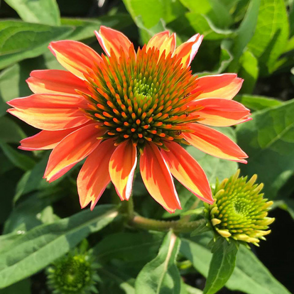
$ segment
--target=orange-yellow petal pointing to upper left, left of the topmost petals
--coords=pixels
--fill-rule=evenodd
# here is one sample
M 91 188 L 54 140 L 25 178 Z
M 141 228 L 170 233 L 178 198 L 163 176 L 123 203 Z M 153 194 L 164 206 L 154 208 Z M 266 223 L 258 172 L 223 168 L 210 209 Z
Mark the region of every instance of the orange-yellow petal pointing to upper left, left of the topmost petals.
M 95 50 L 77 41 L 51 42 L 49 49 L 65 69 L 83 80 L 95 63 L 102 60 Z

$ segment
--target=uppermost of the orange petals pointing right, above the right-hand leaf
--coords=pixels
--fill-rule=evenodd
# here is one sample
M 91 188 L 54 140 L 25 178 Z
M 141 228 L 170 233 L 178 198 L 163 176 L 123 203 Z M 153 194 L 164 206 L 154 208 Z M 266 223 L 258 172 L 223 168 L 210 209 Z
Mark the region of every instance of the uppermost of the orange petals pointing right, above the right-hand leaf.
M 224 98 L 232 99 L 241 89 L 243 79 L 236 73 L 223 73 L 206 75 L 197 79 L 198 85 L 191 94 L 201 92 L 197 99 L 201 98 Z

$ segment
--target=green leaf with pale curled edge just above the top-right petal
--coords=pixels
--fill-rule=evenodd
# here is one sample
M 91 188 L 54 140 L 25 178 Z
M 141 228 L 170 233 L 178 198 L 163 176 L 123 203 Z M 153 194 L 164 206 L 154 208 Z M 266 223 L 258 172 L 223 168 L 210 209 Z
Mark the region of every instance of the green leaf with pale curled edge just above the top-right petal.
M 221 40 L 233 36 L 231 30 L 218 28 L 207 16 L 195 12 L 187 12 L 167 26 L 182 39 L 189 39 L 196 33 L 204 35 L 205 40 Z

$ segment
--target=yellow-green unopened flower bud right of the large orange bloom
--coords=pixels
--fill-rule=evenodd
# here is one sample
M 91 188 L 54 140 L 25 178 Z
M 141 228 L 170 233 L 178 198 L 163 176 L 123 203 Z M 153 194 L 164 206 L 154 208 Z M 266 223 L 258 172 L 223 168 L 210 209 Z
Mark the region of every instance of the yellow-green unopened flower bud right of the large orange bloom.
M 270 233 L 268 217 L 272 201 L 263 198 L 263 184 L 255 184 L 257 176 L 239 177 L 239 171 L 216 185 L 214 204 L 205 204 L 208 226 L 224 238 L 258 245 Z

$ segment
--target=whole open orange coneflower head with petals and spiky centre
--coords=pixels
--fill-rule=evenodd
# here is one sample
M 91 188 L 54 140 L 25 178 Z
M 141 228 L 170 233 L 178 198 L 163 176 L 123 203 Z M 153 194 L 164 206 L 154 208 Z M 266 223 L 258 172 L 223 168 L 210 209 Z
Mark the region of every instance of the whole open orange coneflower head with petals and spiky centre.
M 205 173 L 181 145 L 246 163 L 240 147 L 209 127 L 250 119 L 232 100 L 243 80 L 234 73 L 192 75 L 199 34 L 176 48 L 175 34 L 161 32 L 137 51 L 111 28 L 101 26 L 96 36 L 106 55 L 76 41 L 51 42 L 67 71 L 33 71 L 27 83 L 35 94 L 8 102 L 11 114 L 42 129 L 20 148 L 53 149 L 49 182 L 88 157 L 77 178 L 81 207 L 91 202 L 93 209 L 110 181 L 128 200 L 139 160 L 147 191 L 168 211 L 181 208 L 172 176 L 212 203 Z

